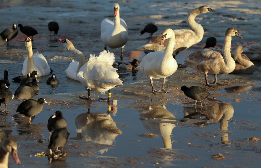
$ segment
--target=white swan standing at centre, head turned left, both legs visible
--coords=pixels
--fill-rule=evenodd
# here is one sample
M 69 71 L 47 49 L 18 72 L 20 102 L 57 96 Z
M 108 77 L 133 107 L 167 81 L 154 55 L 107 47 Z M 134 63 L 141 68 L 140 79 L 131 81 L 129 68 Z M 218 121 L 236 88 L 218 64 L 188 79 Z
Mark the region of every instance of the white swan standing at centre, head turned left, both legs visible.
M 166 39 L 168 39 L 167 46 L 166 46 L 164 52 L 155 51 L 155 52 L 148 53 L 142 59 L 140 65 L 137 68 L 135 68 L 135 69 L 142 71 L 149 77 L 150 84 L 152 87 L 152 92 L 154 94 L 156 94 L 155 91 L 157 91 L 157 90 L 155 90 L 153 87 L 152 78 L 154 78 L 154 79 L 163 78 L 162 87 L 157 92 L 161 92 L 161 91 L 167 92 L 164 89 L 166 77 L 175 73 L 178 68 L 178 64 L 177 64 L 176 60 L 172 57 L 172 49 L 175 45 L 175 33 L 173 32 L 172 29 L 167 28 L 162 33 L 161 37 L 162 37 L 162 40 L 160 42 L 160 45 Z

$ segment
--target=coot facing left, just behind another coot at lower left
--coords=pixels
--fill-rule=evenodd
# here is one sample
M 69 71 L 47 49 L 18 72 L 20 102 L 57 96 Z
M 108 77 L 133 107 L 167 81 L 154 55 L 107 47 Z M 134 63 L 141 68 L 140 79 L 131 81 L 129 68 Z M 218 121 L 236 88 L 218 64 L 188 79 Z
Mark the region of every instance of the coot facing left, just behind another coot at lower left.
M 51 133 L 54 132 L 56 129 L 60 128 L 66 128 L 67 127 L 67 121 L 64 117 L 62 117 L 61 111 L 56 111 L 54 115 L 51 115 L 51 117 L 48 119 L 47 128 L 50 132 L 48 141 L 50 141 Z

